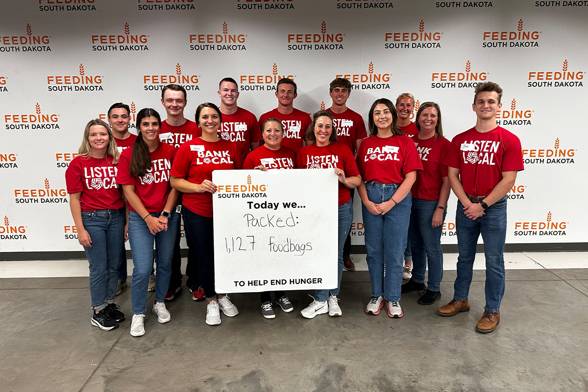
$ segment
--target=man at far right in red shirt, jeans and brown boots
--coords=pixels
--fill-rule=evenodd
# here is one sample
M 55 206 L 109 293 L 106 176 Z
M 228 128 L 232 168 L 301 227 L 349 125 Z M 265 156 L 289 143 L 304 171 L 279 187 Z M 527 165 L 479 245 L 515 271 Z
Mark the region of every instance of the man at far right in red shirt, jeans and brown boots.
M 457 278 L 453 299 L 437 310 L 453 316 L 470 310 L 467 294 L 472 282 L 477 239 L 482 234 L 486 256 L 486 306 L 476 331 L 492 332 L 500 322 L 505 293 L 506 193 L 523 170 L 520 140 L 496 125 L 502 89 L 493 82 L 476 86 L 472 108 L 476 126 L 453 138 L 445 158 L 448 179 L 457 196 Z

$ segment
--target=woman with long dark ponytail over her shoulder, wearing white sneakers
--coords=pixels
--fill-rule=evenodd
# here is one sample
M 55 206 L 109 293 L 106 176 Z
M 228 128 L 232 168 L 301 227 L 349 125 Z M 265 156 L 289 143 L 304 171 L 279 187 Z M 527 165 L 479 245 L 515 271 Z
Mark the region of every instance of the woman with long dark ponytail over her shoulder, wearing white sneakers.
M 169 185 L 169 170 L 176 148 L 159 142 L 161 118 L 153 109 L 141 109 L 136 117 L 138 136 L 121 154 L 116 180 L 122 185 L 129 207 L 129 242 L 133 256 L 131 335 L 145 334 L 147 287 L 153 267 L 153 243 L 157 280 L 153 313 L 160 323 L 171 320 L 163 301 L 168 291 L 173 246 L 180 215 L 175 211 L 179 192 Z

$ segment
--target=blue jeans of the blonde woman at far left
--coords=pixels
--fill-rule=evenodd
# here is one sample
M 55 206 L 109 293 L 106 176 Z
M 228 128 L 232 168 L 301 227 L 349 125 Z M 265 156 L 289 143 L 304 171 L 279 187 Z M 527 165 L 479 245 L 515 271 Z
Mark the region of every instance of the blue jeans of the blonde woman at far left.
M 125 249 L 125 209 L 82 211 L 82 224 L 92 247 L 84 247 L 90 267 L 92 308 L 102 310 L 114 303 L 116 278 Z

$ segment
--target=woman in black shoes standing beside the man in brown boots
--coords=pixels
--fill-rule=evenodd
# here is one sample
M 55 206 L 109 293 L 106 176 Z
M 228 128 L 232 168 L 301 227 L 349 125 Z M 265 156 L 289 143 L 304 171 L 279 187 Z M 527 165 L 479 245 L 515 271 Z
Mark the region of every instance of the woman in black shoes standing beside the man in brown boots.
M 416 112 L 416 128 L 420 133 L 412 136 L 423 171 L 417 173 L 412 186 L 412 212 L 408 230 L 412 244 L 413 270 L 410 280 L 402 285 L 402 293 L 422 292 L 419 303 L 433 304 L 441 297 L 443 278 L 443 251 L 441 232 L 447 212 L 447 199 L 451 187 L 447 181 L 447 156 L 450 142 L 443 138 L 441 109 L 435 102 L 425 102 Z M 425 270 L 429 276 L 425 285 Z

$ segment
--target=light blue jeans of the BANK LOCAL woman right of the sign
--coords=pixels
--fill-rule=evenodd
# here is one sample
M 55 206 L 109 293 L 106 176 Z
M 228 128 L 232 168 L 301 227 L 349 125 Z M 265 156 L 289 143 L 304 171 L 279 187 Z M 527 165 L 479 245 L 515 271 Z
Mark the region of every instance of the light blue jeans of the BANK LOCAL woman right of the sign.
M 380 184 L 368 181 L 368 199 L 376 204 L 387 202 L 399 186 L 400 183 Z M 403 256 L 412 206 L 410 192 L 404 199 L 396 202 L 398 204 L 385 215 L 372 215 L 362 204 L 364 239 L 368 251 L 366 262 L 372 281 L 372 296 L 379 297 L 383 294 L 387 301 L 400 300 Z

